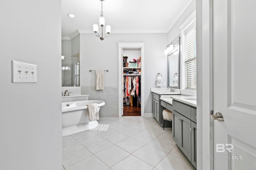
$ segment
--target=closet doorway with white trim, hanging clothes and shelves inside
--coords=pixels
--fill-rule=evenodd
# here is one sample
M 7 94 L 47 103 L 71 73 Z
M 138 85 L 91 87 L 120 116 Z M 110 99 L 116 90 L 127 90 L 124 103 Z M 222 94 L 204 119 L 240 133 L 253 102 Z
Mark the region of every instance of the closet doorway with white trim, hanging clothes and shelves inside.
M 118 43 L 119 117 L 144 117 L 144 43 Z

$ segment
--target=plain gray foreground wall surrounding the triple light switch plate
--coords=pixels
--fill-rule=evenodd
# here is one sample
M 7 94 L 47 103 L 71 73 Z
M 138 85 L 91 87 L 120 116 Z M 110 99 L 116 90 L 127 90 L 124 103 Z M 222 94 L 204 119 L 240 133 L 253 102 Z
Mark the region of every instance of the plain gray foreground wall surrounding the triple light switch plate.
M 61 0 L 0 4 L 0 169 L 62 170 Z M 12 60 L 38 82 L 12 83 Z

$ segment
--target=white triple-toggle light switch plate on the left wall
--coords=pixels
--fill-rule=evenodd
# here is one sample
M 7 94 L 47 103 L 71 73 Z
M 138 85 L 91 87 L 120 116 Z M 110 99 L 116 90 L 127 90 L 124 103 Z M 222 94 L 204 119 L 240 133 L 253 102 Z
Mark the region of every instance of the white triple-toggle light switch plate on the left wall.
M 36 83 L 37 70 L 35 64 L 23 63 L 12 60 L 12 82 L 13 83 Z

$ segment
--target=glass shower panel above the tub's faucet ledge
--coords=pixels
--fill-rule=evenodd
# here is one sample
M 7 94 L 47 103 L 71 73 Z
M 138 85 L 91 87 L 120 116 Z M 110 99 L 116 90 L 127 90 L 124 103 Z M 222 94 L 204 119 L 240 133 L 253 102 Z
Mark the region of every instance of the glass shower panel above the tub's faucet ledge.
M 80 54 L 61 57 L 62 87 L 80 86 Z

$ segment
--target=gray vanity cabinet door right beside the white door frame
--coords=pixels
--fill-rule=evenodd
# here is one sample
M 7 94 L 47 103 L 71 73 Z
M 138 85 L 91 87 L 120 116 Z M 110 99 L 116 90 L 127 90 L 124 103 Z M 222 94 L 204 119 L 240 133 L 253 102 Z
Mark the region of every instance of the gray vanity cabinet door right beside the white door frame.
M 196 123 L 191 121 L 191 163 L 196 168 Z

